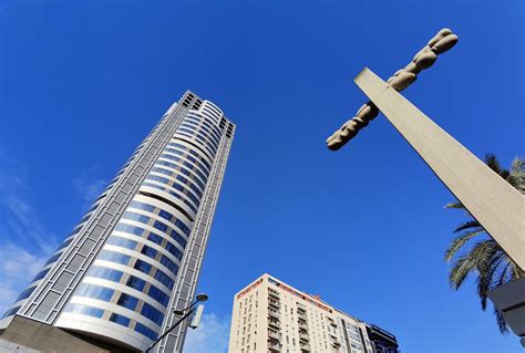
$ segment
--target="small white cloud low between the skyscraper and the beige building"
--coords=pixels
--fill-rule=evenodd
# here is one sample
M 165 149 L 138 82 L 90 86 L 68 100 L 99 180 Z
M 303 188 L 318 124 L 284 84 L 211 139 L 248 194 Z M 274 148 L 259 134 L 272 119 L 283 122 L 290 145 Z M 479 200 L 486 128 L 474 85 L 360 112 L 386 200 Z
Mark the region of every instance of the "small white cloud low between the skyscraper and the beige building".
M 200 325 L 188 329 L 184 353 L 226 353 L 228 351 L 230 318 L 204 314 Z

